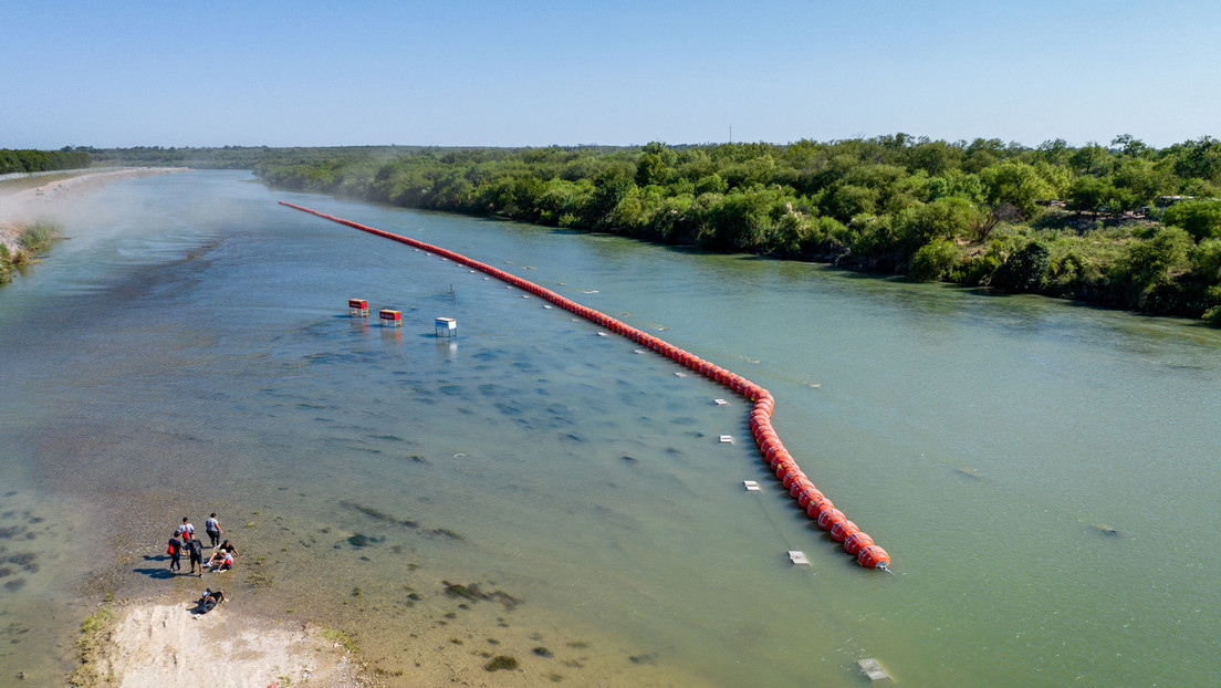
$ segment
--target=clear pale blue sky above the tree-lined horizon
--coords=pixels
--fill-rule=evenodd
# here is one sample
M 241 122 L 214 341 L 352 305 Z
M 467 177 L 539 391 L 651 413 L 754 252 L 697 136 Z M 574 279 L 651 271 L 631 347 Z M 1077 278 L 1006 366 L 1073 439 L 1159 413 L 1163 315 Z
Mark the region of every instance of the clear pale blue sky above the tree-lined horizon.
M 0 148 L 1221 137 L 1221 2 L 0 0 Z

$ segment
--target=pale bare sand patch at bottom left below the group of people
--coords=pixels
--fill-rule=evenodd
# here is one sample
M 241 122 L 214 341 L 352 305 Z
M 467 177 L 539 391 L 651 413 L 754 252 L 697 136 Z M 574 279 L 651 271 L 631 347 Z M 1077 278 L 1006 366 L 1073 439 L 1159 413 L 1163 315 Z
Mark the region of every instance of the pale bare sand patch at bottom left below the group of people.
M 203 591 L 203 583 L 200 583 Z M 364 686 L 342 638 L 259 617 L 231 599 L 208 613 L 182 593 L 121 604 L 95 637 L 81 686 Z

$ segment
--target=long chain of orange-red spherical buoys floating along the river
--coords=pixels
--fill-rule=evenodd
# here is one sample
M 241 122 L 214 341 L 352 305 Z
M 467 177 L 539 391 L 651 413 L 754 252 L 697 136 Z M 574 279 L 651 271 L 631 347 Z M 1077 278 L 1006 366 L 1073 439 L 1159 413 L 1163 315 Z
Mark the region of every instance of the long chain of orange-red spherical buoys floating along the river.
M 856 523 L 849 521 L 840 510 L 835 508 L 835 505 L 832 503 L 832 501 L 827 499 L 827 496 L 824 496 L 817 488 L 814 488 L 814 484 L 801 470 L 797 462 L 794 461 L 789 452 L 784 448 L 784 442 L 780 441 L 779 435 L 777 435 L 775 430 L 772 428 L 772 412 L 775 409 L 775 400 L 772 397 L 772 393 L 763 387 L 751 382 L 741 375 L 736 375 L 724 368 L 705 360 L 689 351 L 684 351 L 667 341 L 654 337 L 653 335 L 637 330 L 621 320 L 610 318 L 609 315 L 586 306 L 581 306 L 575 301 L 518 277 L 516 275 L 510 275 L 498 268 L 466 258 L 460 253 L 454 253 L 444 248 L 424 243 L 422 241 L 359 225 L 352 220 L 344 220 L 342 218 L 336 218 L 335 215 L 319 213 L 317 210 L 311 210 L 294 203 L 281 200 L 280 204 L 316 215 L 325 220 L 331 220 L 332 222 L 347 225 L 363 232 L 369 232 L 371 235 L 413 246 L 421 251 L 433 253 L 442 258 L 448 258 L 454 263 L 459 263 L 491 275 L 512 286 L 521 288 L 523 291 L 540 298 L 545 298 L 556 306 L 580 315 L 586 320 L 596 323 L 597 325 L 601 325 L 615 334 L 623 335 L 641 346 L 646 346 L 755 402 L 750 414 L 751 434 L 755 436 L 755 444 L 758 445 L 763 461 L 767 462 L 772 470 L 775 472 L 775 477 L 789 490 L 789 494 L 797 500 L 797 506 L 803 508 L 806 514 L 818 523 L 819 528 L 828 530 L 836 543 L 842 543 L 844 550 L 850 555 L 855 555 L 857 563 L 866 568 L 880 568 L 883 571 L 889 569 L 890 555 L 886 554 L 886 550 L 875 545 L 873 543 L 873 538 L 861 532 L 861 529 L 856 527 Z

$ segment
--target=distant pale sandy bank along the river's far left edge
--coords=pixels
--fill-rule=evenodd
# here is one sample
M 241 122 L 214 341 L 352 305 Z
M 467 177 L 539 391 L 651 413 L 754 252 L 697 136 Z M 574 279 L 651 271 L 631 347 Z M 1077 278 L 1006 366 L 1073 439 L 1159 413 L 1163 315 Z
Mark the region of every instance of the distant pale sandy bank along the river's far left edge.
M 187 167 L 125 167 L 100 172 L 74 170 L 63 172 L 65 176 L 53 175 L 49 181 L 35 187 L 28 186 L 31 183 L 28 180 L 22 180 L 24 183 L 0 183 L 0 243 L 16 249 L 17 237 L 21 236 L 24 224 L 42 218 L 54 219 L 62 202 L 76 192 L 117 180 L 186 170 Z

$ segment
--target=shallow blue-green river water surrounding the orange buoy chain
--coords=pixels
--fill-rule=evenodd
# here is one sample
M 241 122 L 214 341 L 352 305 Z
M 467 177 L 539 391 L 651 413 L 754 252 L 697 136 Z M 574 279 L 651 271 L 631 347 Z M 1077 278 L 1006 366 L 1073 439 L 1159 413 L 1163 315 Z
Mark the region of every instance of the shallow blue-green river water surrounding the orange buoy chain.
M 894 574 L 796 508 L 733 392 L 281 199 L 767 387 L 786 447 Z M 860 686 L 866 657 L 910 686 L 1167 686 L 1221 662 L 1216 330 L 245 172 L 116 182 L 65 227 L 0 290 L 4 682 L 59 683 L 100 595 L 216 580 L 350 633 L 391 686 Z M 168 577 L 168 532 L 212 511 L 237 569 Z M 518 668 L 487 672 L 496 656 Z

